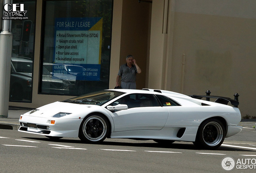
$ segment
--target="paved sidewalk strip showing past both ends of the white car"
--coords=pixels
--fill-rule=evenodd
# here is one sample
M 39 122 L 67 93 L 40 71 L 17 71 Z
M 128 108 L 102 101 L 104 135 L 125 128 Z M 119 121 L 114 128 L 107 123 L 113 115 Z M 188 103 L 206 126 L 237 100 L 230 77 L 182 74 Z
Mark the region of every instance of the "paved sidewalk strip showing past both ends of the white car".
M 18 130 L 20 116 L 24 113 L 33 110 L 33 108 L 9 107 L 8 117 L 0 117 L 0 129 Z M 256 119 L 242 119 L 238 124 L 242 127 L 254 127 Z

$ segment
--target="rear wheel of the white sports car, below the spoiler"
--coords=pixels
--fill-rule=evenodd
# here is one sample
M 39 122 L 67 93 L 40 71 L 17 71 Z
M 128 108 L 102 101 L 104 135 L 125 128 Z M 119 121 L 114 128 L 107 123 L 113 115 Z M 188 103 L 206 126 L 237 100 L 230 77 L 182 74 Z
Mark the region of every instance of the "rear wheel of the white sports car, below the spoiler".
M 225 127 L 218 119 L 208 119 L 198 128 L 194 145 L 204 149 L 217 149 L 225 139 Z

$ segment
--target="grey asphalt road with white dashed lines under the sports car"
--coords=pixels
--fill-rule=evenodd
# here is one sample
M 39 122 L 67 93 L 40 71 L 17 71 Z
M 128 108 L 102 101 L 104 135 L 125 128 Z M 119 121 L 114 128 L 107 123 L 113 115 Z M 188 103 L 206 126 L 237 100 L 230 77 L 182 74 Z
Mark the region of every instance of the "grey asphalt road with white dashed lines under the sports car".
M 79 139 L 52 141 L 41 135 L 0 129 L 0 172 L 37 173 L 225 173 L 222 159 L 256 161 L 256 131 L 244 128 L 217 150 L 201 150 L 190 142 L 169 146 L 152 140 L 106 139 L 101 145 Z M 255 163 L 256 165 L 256 163 Z M 235 169 L 232 173 L 255 172 Z

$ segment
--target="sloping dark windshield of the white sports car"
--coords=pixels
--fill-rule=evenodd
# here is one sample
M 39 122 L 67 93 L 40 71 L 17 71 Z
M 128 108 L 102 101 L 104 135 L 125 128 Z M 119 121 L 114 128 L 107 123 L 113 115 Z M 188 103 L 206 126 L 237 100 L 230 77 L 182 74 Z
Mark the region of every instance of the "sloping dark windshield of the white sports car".
M 72 99 L 68 99 L 62 102 L 66 103 L 75 103 L 75 104 L 83 104 L 83 105 L 103 105 L 104 103 L 107 103 L 108 101 L 124 94 L 120 91 L 97 91 L 94 93 L 89 93 L 86 95 L 81 95 L 78 97 L 74 97 Z

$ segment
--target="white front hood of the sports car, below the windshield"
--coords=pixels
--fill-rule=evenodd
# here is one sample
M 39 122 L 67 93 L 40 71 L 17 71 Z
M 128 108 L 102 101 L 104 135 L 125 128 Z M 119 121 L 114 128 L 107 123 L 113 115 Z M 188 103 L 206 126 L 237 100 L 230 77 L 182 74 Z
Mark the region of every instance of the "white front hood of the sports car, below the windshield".
M 86 114 L 93 109 L 101 109 L 101 106 L 97 105 L 79 105 L 74 103 L 64 103 L 64 102 L 54 102 L 48 105 L 37 108 L 34 113 L 31 111 L 25 113 L 24 115 L 29 115 L 32 117 L 53 117 L 57 113 L 70 113 L 70 115 L 80 115 L 81 112 Z M 69 116 L 71 117 L 71 116 Z M 63 117 L 62 117 L 63 118 Z M 66 117 L 64 117 L 66 118 Z M 61 119 L 61 118 L 60 118 Z

